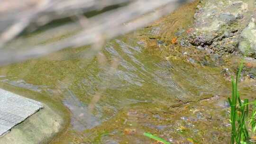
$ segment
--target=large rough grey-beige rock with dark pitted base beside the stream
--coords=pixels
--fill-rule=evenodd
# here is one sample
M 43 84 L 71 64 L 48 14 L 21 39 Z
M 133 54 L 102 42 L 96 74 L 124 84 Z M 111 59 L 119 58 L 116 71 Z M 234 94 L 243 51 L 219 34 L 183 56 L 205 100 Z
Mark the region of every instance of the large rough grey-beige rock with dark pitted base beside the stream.
M 210 53 L 233 53 L 249 22 L 251 3 L 253 0 L 201 0 L 188 42 Z

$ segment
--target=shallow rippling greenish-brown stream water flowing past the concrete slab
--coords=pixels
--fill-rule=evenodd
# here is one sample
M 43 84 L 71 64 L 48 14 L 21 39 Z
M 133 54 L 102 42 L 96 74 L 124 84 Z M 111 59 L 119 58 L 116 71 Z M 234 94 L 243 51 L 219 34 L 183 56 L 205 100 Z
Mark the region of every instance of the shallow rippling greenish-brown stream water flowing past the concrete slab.
M 227 142 L 221 69 L 157 51 L 133 32 L 96 55 L 84 46 L 2 67 L 1 87 L 62 113 L 67 125 L 52 144 L 152 144 L 144 132 L 176 144 Z

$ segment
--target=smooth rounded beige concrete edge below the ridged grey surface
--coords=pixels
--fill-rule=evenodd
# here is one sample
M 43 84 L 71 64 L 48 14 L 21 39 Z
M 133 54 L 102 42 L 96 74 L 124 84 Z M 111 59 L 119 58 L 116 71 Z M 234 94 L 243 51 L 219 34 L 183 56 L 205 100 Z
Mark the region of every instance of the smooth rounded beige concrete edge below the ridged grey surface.
M 64 119 L 44 108 L 0 136 L 0 144 L 48 144 L 64 128 Z

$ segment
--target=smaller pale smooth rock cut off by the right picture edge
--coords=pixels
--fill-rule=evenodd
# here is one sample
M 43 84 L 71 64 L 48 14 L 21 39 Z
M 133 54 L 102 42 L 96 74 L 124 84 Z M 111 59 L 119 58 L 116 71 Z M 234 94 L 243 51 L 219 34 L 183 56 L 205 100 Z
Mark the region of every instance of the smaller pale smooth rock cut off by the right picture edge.
M 239 49 L 243 54 L 256 58 L 255 18 L 252 18 L 249 25 L 242 31 L 240 35 Z

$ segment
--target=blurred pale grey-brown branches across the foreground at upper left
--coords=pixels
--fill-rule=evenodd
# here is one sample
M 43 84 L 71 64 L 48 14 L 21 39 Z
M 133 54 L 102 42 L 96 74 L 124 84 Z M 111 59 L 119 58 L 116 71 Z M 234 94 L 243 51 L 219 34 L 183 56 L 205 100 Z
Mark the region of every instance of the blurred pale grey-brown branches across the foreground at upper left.
M 192 0 L 8 0 L 0 1 L 0 65 L 67 48 L 102 43 L 126 34 Z M 117 6 L 110 10 L 102 9 Z M 156 10 L 157 8 L 161 8 Z M 88 12 L 95 12 L 86 16 Z M 67 23 L 21 35 L 56 19 Z M 52 39 L 58 40 L 52 40 Z

